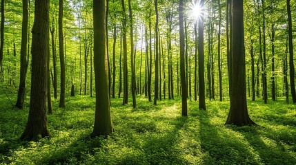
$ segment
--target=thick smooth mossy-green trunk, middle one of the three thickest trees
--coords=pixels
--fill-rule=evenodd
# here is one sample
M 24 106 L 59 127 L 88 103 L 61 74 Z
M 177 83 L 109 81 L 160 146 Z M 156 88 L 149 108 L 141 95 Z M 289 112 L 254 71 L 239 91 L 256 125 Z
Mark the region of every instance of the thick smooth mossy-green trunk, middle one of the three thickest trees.
M 106 0 L 93 1 L 94 67 L 96 87 L 95 126 L 92 135 L 112 133 L 106 48 Z

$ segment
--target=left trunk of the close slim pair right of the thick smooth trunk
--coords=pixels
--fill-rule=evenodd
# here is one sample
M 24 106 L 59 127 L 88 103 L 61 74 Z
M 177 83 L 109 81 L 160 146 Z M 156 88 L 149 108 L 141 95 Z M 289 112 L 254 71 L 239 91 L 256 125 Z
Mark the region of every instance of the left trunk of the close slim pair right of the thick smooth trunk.
M 126 6 L 124 0 L 121 0 L 122 10 L 126 13 Z M 128 50 L 126 45 L 126 16 L 123 21 L 123 35 L 124 35 L 124 100 L 122 104 L 128 104 Z

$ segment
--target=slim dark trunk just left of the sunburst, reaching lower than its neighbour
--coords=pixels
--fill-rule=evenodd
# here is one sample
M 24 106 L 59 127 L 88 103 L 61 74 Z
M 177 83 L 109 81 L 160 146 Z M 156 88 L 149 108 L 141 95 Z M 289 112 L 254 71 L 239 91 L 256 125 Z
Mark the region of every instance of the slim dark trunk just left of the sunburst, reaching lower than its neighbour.
M 187 84 L 185 76 L 185 39 L 184 39 L 184 8 L 183 0 L 179 0 L 179 37 L 180 37 L 180 74 L 182 89 L 182 116 L 187 116 Z

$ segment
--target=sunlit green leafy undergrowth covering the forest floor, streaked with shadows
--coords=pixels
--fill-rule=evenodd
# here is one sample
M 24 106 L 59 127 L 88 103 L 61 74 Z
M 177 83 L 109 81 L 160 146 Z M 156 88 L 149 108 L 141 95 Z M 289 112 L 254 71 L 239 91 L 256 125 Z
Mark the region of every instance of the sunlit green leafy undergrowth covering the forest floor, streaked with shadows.
M 10 98 L 15 102 L 16 98 Z M 250 118 L 259 126 L 225 126 L 229 101 L 206 101 L 207 110 L 188 100 L 181 117 L 181 98 L 157 106 L 137 97 L 122 106 L 111 100 L 115 132 L 90 137 L 95 98 L 66 98 L 66 109 L 53 100 L 48 115 L 51 137 L 40 142 L 19 140 L 28 119 L 0 95 L 0 164 L 296 164 L 296 107 L 284 100 L 248 100 Z

